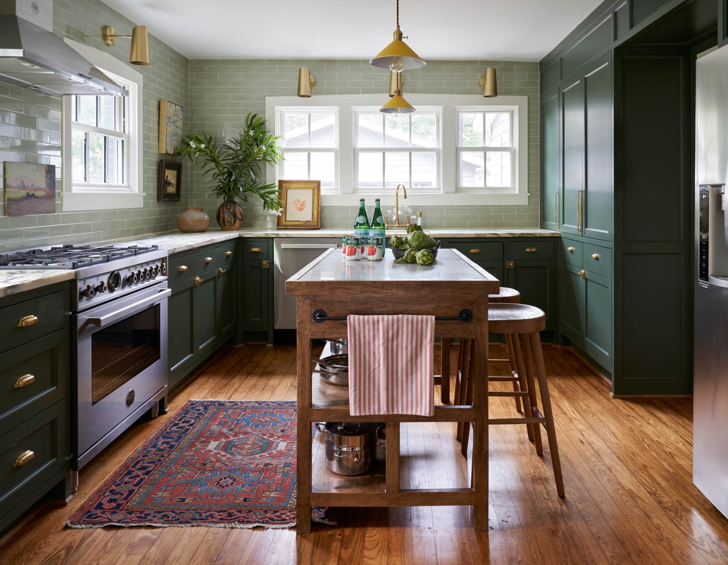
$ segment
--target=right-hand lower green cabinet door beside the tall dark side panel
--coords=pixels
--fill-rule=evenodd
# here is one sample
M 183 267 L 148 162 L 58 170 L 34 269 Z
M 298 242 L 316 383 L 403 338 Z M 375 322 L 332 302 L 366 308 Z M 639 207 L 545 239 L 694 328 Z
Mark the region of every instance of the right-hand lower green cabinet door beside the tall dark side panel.
M 612 368 L 612 281 L 587 272 L 584 284 L 584 349 Z

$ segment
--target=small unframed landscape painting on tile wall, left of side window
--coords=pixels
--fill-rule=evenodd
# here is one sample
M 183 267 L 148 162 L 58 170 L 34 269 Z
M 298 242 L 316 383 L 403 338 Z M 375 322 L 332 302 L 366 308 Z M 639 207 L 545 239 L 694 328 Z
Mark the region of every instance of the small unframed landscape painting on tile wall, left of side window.
M 3 165 L 6 216 L 55 213 L 55 165 Z

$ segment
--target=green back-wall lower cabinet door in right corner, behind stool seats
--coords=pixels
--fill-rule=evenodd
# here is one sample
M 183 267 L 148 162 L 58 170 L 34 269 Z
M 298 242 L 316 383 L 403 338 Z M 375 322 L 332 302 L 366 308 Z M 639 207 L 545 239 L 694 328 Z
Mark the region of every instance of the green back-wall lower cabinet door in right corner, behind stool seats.
M 554 261 L 514 261 L 506 269 L 507 286 L 521 293 L 521 304 L 531 304 L 546 314 L 546 328 L 556 325 L 556 271 Z

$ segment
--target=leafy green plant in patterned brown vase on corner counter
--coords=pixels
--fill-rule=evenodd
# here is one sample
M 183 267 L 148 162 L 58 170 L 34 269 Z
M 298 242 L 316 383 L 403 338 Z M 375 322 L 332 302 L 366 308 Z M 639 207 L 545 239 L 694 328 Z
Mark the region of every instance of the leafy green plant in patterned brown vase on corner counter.
M 252 194 L 263 201 L 264 209 L 274 212 L 282 206 L 277 186 L 262 179 L 264 166 L 274 165 L 282 158 L 276 145 L 280 135 L 274 137 L 267 132 L 265 124 L 258 114 L 248 114 L 245 130 L 223 145 L 215 143 L 204 130 L 202 134 L 189 133 L 182 138 L 177 152 L 201 165 L 202 176 L 210 175 L 215 183 L 211 194 L 225 199 L 217 212 L 221 229 L 240 229 L 242 225 L 242 207 L 235 202 L 236 198 L 248 202 L 248 195 Z

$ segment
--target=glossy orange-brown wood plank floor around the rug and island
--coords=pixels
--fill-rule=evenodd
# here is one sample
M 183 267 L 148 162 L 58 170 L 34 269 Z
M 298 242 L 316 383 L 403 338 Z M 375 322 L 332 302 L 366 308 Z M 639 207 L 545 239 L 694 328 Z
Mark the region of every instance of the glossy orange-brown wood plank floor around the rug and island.
M 537 457 L 522 426 L 492 426 L 488 533 L 472 531 L 463 507 L 345 509 L 338 527 L 314 524 L 298 537 L 280 529 L 66 529 L 76 507 L 189 398 L 296 399 L 295 347 L 246 345 L 223 349 L 170 398 L 169 414 L 138 422 L 84 467 L 68 506 L 44 502 L 28 513 L 0 538 L 0 563 L 728 563 L 728 519 L 691 481 L 692 400 L 612 400 L 571 349 L 544 352 L 566 498 L 556 496 L 545 433 Z M 491 416 L 507 414 L 512 399 L 491 399 Z M 454 424 L 403 425 L 406 486 L 467 484 L 458 449 Z

